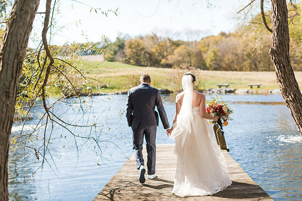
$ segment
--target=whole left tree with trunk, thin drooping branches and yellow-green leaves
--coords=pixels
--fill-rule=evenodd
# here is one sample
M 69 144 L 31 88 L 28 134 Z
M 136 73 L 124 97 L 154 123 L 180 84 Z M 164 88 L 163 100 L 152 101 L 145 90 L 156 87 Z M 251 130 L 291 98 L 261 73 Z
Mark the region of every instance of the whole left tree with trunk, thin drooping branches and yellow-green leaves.
M 53 16 L 55 10 L 57 10 L 55 9 L 57 0 L 54 1 L 52 9 L 52 0 L 46 0 L 45 12 L 40 13 L 44 15 L 41 46 L 36 50 L 27 49 L 27 43 L 38 4 L 39 0 L 15 0 L 10 17 L 8 17 L 7 20 L 0 49 L 0 112 L 3 114 L 0 116 L 0 201 L 8 201 L 7 162 L 9 140 L 15 112 L 16 114 L 20 114 L 20 116 L 24 115 L 23 117 L 26 119 L 30 113 L 30 109 L 39 106 L 37 101 L 42 101 L 40 105 L 42 105 L 44 109 L 43 114 L 36 128 L 34 128 L 31 133 L 22 134 L 21 130 L 19 134 L 19 145 L 22 145 L 22 142 L 26 144 L 26 141 L 31 139 L 31 135 L 34 134 L 35 131 L 37 131 L 37 133 L 39 132 L 39 124 L 40 126 L 45 126 L 43 136 L 39 137 L 42 139 L 43 146 L 34 147 L 34 145 L 26 144 L 26 148 L 33 151 L 37 160 L 39 160 L 39 156 L 41 156 L 40 168 L 42 168 L 44 162 L 47 161 L 46 153 L 49 151 L 48 145 L 55 125 L 60 126 L 72 134 L 76 149 L 78 148 L 76 138 L 84 140 L 91 139 L 95 149 L 101 152 L 101 148 L 98 144 L 100 141 L 99 135 L 91 136 L 91 133 L 85 134 L 85 132 L 84 134 L 75 134 L 69 128 L 69 126 L 74 128 L 94 127 L 96 133 L 98 125 L 94 123 L 95 121 L 92 123 L 86 121 L 86 125 L 85 123 L 79 125 L 78 122 L 74 124 L 72 121 L 65 122 L 59 114 L 55 114 L 51 109 L 56 102 L 59 102 L 61 99 L 76 96 L 78 98 L 77 101 L 81 104 L 81 112 L 84 114 L 82 103 L 84 104 L 85 101 L 81 100 L 80 94 L 77 92 L 77 87 L 83 87 L 90 82 L 100 82 L 97 78 L 85 76 L 84 74 L 88 74 L 90 70 L 76 67 L 75 64 L 81 61 L 80 55 L 85 52 L 103 53 L 103 49 L 97 49 L 95 44 L 71 44 L 62 51 L 61 47 L 48 44 L 47 34 L 49 30 L 51 30 L 49 28 L 54 26 Z M 107 16 L 109 12 L 116 14 L 116 11 L 117 10 L 101 11 L 101 13 Z M 51 34 L 50 31 L 49 35 Z M 24 59 L 24 55 L 26 55 L 26 59 Z M 67 57 L 65 58 L 65 56 Z M 21 74 L 22 70 L 23 72 Z M 19 81 L 21 81 L 21 87 L 19 87 Z M 19 94 L 18 89 L 20 90 Z M 59 98 L 57 101 L 51 103 L 47 98 L 50 93 L 55 90 L 59 92 Z M 22 105 L 21 101 L 26 102 L 26 105 Z M 72 104 L 73 101 L 70 102 L 70 104 Z M 27 111 L 24 111 L 24 108 L 27 108 Z M 46 132 L 48 124 L 52 125 L 49 135 L 47 135 L 48 133 Z M 15 136 L 14 140 L 16 138 L 18 139 L 18 137 Z M 14 147 L 16 147 L 16 144 Z

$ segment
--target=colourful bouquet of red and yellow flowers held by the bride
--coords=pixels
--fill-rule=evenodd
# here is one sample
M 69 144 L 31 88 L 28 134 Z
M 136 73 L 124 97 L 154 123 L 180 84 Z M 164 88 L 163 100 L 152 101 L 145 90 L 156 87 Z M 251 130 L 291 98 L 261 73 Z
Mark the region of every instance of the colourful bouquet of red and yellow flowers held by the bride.
M 227 102 L 222 101 L 221 96 L 216 96 L 216 98 L 211 97 L 210 101 L 206 102 L 207 105 L 207 113 L 209 115 L 218 116 L 218 121 L 210 120 L 209 123 L 218 123 L 223 126 L 227 126 L 227 120 L 233 120 L 229 115 L 233 113 L 228 106 Z

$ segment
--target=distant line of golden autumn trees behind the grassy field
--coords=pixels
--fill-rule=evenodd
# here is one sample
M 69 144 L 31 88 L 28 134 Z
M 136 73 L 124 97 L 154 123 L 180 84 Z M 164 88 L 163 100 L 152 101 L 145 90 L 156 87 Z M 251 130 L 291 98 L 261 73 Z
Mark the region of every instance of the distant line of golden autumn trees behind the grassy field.
M 290 54 L 294 70 L 302 71 L 301 3 L 288 5 Z M 271 27 L 270 13 L 266 20 Z M 261 23 L 261 15 L 241 25 L 232 33 L 208 36 L 200 41 L 162 38 L 156 34 L 129 38 L 117 37 L 114 42 L 98 43 L 105 49 L 106 60 L 125 60 L 137 66 L 197 67 L 204 70 L 273 71 L 269 56 L 271 33 Z

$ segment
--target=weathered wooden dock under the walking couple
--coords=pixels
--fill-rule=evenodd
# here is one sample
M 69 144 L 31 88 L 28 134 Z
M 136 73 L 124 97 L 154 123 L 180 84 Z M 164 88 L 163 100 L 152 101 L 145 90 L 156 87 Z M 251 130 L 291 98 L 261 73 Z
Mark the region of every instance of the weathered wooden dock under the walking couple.
M 157 145 L 156 147 L 156 178 L 146 179 L 145 184 L 140 184 L 139 172 L 135 168 L 134 154 L 132 154 L 130 160 L 98 193 L 94 201 L 273 201 L 227 151 L 223 151 L 223 153 L 233 182 L 232 185 L 212 196 L 178 197 L 171 193 L 176 171 L 174 145 Z M 146 165 L 145 146 L 143 155 Z

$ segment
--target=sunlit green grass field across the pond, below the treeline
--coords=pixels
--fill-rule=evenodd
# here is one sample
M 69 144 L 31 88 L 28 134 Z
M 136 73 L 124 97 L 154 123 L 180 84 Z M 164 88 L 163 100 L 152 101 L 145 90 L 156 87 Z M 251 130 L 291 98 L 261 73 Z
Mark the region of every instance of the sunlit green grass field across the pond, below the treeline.
M 93 62 L 85 61 L 81 68 L 96 66 L 89 76 L 102 76 L 101 81 L 108 83 L 112 92 L 124 91 L 138 85 L 141 74 L 149 73 L 151 86 L 155 88 L 167 88 L 172 91 L 181 89 L 181 76 L 189 71 L 186 69 L 138 67 L 118 62 Z M 79 64 L 78 64 L 79 67 Z M 262 84 L 260 89 L 279 88 L 276 82 L 275 72 L 236 72 L 236 71 L 208 71 L 193 70 L 196 75 L 196 86 L 199 89 L 217 88 L 217 84 L 229 84 L 229 87 L 236 89 L 249 89 L 248 84 Z M 296 79 L 302 86 L 302 72 L 295 72 Z M 95 82 L 91 86 L 99 85 Z M 108 92 L 109 89 L 105 89 Z

